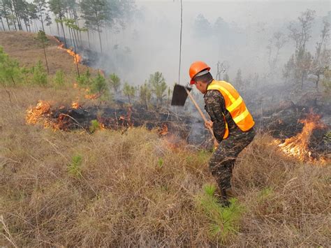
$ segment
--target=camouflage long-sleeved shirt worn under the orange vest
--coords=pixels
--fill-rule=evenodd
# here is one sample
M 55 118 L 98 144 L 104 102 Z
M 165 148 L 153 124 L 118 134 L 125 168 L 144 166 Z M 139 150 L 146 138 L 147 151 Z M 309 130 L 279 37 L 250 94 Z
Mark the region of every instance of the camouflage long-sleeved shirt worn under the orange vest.
M 219 143 L 223 140 L 226 131 L 226 122 L 228 123 L 229 137 L 233 136 L 232 138 L 240 139 L 244 136 L 244 132 L 235 124 L 230 112 L 226 110 L 226 102 L 221 92 L 216 89 L 208 90 L 204 99 L 205 110 L 213 122 L 214 136 Z M 224 118 L 226 122 L 224 122 Z

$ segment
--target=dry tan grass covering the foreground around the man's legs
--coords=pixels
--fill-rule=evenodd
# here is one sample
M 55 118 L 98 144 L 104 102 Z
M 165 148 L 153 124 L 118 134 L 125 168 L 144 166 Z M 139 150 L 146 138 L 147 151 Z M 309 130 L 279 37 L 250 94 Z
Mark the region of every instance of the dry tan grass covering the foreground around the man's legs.
M 214 184 L 209 152 L 171 149 L 145 129 L 89 135 L 27 126 L 29 104 L 75 93 L 12 92 L 10 105 L 0 91 L 1 245 L 222 246 L 196 201 L 204 184 Z M 330 247 L 330 166 L 287 159 L 270 143 L 258 135 L 236 163 L 244 213 L 223 245 Z

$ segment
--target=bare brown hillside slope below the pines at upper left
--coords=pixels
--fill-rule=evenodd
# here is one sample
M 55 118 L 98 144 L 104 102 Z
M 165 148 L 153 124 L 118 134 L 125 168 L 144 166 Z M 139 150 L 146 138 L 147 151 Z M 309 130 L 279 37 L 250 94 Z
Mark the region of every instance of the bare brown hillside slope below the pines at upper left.
M 65 73 L 75 73 L 76 65 L 73 57 L 66 50 L 58 48 L 59 43 L 53 36 L 47 36 L 47 38 L 49 43 L 46 48 L 46 55 L 50 74 L 56 73 L 59 69 Z M 34 66 L 39 59 L 46 66 L 43 47 L 36 41 L 36 34 L 34 33 L 1 31 L 0 45 L 10 57 L 17 59 L 21 66 Z M 87 66 L 79 64 L 79 69 L 85 71 Z

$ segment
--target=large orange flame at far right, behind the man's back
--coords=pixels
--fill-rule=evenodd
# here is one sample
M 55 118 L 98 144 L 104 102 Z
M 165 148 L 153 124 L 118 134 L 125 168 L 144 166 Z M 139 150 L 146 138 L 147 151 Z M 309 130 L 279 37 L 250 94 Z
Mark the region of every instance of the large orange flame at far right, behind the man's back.
M 287 138 L 284 143 L 278 144 L 282 152 L 288 156 L 296 157 L 300 161 L 314 161 L 308 145 L 312 131 L 324 126 L 320 119 L 321 116 L 315 114 L 310 114 L 307 119 L 301 119 L 299 122 L 304 124 L 302 132 Z

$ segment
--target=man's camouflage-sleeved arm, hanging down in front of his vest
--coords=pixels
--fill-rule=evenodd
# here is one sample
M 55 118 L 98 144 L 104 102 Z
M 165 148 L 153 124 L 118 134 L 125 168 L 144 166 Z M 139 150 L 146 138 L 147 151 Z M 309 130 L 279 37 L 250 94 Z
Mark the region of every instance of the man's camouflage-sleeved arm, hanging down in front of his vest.
M 226 122 L 223 117 L 223 112 L 226 110 L 226 103 L 218 90 L 209 90 L 205 94 L 205 110 L 213 122 L 214 136 L 220 142 L 223 140 L 226 131 Z

